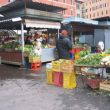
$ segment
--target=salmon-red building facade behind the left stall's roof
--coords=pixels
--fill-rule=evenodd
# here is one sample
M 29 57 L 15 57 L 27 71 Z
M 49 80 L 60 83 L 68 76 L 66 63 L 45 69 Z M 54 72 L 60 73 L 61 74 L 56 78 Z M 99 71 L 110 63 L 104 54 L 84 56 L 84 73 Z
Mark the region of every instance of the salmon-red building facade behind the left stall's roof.
M 13 1 L 15 0 L 0 0 L 0 5 L 4 5 Z M 33 0 L 33 1 L 66 8 L 66 10 L 61 12 L 65 18 L 76 15 L 76 0 Z

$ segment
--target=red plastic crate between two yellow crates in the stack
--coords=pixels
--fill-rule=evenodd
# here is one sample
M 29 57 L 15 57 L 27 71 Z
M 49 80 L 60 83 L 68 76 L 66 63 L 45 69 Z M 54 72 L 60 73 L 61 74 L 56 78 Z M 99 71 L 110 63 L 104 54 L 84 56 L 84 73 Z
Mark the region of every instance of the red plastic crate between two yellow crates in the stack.
M 54 75 L 54 85 L 62 87 L 63 86 L 63 73 L 53 72 Z

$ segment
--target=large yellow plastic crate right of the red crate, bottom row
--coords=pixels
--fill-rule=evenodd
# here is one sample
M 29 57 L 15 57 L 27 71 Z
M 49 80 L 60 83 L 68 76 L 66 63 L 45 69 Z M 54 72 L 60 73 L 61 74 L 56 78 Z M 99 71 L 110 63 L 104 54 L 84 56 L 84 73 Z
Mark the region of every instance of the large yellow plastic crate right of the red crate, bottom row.
M 74 73 L 63 74 L 63 88 L 65 89 L 76 88 L 76 76 Z

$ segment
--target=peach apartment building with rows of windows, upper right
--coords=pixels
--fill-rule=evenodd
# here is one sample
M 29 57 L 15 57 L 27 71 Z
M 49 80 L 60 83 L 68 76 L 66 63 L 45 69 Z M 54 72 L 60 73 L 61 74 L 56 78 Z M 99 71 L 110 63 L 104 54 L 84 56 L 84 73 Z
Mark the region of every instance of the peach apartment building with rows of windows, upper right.
M 88 19 L 108 18 L 110 0 L 87 0 L 82 4 L 82 15 Z

